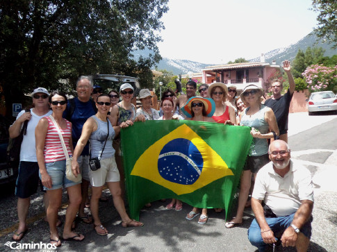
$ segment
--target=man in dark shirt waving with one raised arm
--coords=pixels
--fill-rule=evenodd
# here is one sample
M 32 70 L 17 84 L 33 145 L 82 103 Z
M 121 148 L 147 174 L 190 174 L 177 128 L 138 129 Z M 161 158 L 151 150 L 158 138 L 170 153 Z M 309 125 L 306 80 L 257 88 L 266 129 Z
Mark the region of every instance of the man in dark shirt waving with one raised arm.
M 274 111 L 277 125 L 279 126 L 279 139 L 288 142 L 288 115 L 290 101 L 295 91 L 295 81 L 293 74 L 290 72 L 290 62 L 288 60 L 283 62 L 283 69 L 288 75 L 288 92 L 281 95 L 282 83 L 279 80 L 272 81 L 272 98 L 265 101 L 265 106 Z

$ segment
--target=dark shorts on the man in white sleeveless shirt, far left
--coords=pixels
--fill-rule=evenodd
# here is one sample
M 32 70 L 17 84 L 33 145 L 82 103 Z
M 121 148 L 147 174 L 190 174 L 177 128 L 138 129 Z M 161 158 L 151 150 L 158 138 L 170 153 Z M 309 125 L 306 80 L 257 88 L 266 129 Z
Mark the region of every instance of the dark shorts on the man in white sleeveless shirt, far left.
M 38 186 L 42 190 L 42 183 L 39 179 L 38 162 L 21 161 L 19 164 L 19 175 L 15 185 L 15 195 L 21 199 L 26 199 L 36 192 Z

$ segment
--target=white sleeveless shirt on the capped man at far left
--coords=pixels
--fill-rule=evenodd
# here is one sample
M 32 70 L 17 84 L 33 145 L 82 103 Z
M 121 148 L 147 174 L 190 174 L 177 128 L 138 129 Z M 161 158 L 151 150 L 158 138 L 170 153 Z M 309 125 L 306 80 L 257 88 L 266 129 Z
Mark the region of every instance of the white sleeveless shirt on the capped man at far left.
M 20 161 L 38 162 L 35 149 L 35 128 L 38 126 L 38 122 L 42 117 L 47 117 L 51 115 L 51 113 L 52 111 L 49 110 L 47 114 L 39 117 L 33 112 L 33 108 L 31 108 L 31 119 L 28 121 L 27 132 L 26 135 L 24 135 L 24 140 L 22 140 L 21 144 Z M 24 114 L 24 110 L 19 112 L 17 119 L 21 117 L 22 114 Z

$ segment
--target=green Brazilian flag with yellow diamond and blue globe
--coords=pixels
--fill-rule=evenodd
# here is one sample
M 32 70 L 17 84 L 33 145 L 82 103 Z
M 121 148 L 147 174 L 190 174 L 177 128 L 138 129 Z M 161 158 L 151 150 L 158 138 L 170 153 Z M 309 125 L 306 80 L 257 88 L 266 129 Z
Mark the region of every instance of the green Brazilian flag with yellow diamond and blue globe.
M 121 131 L 130 215 L 175 198 L 224 208 L 226 219 L 252 143 L 250 128 L 204 121 L 145 121 Z

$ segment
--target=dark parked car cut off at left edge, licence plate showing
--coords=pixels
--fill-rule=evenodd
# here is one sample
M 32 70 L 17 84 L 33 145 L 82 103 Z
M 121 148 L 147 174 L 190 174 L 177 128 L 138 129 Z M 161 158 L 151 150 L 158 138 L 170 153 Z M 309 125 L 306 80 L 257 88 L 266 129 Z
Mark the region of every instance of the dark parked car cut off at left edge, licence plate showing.
M 7 148 L 10 141 L 8 128 L 12 122 L 0 115 L 0 185 L 11 183 L 17 179 L 19 167 L 10 165 L 7 160 Z

